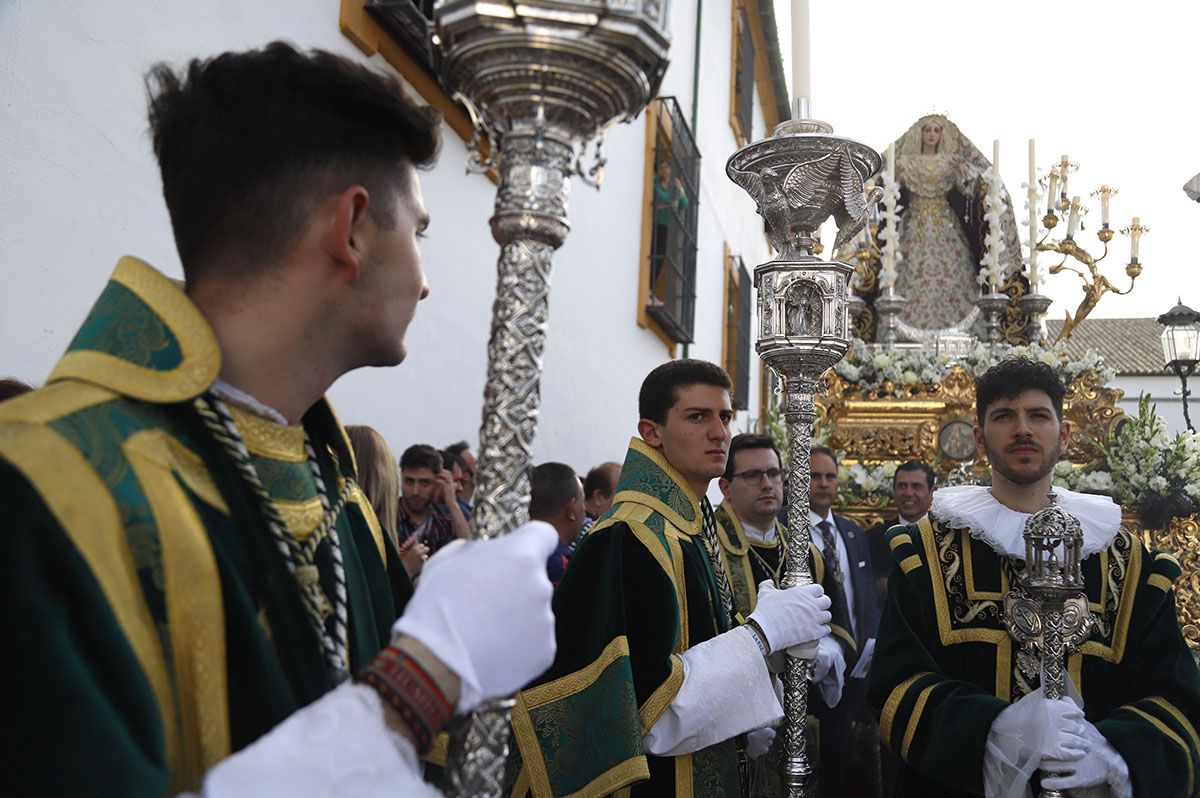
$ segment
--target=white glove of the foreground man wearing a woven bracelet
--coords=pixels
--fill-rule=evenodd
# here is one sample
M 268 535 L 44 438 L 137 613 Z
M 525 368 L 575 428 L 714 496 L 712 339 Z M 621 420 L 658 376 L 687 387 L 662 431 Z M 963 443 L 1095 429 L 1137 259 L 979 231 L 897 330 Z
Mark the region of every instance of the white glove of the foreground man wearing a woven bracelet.
M 462 682 L 458 712 L 509 696 L 554 661 L 554 528 L 529 521 L 497 540 L 457 540 L 431 557 L 392 635 L 422 642 Z

